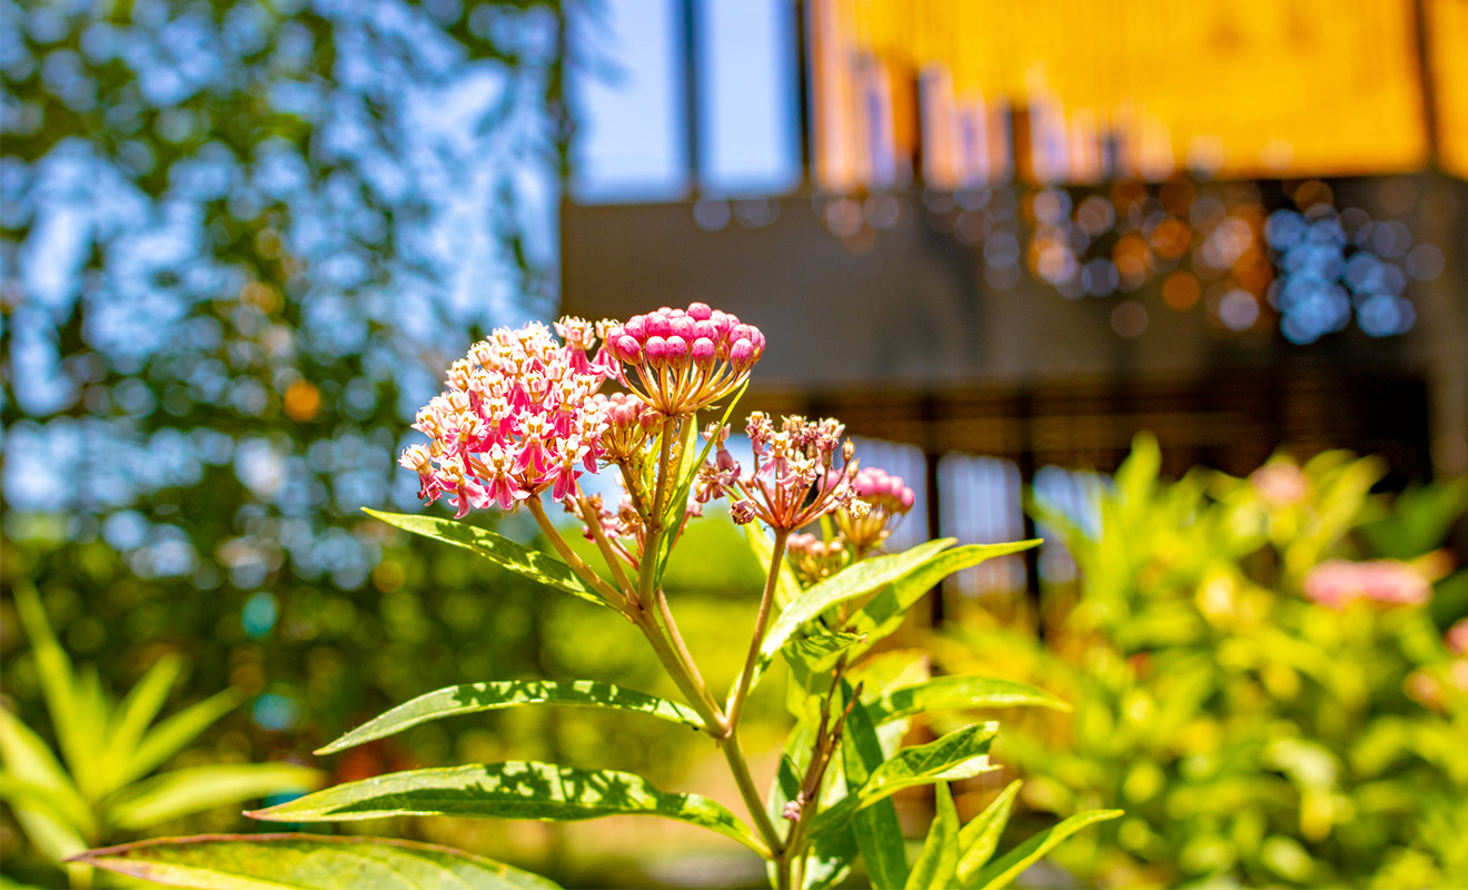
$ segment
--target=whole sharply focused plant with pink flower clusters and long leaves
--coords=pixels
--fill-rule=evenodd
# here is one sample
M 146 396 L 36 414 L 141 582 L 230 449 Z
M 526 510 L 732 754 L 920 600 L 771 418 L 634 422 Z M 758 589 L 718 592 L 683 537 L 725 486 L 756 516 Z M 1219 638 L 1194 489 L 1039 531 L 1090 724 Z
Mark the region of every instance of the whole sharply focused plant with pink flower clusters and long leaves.
M 891 526 L 912 507 L 900 479 L 859 468 L 835 420 L 750 416 L 753 466 L 728 449 L 730 416 L 765 348 L 763 335 L 733 316 L 693 304 L 625 323 L 564 319 L 556 341 L 542 325 L 496 330 L 448 375 L 449 389 L 417 416 L 427 445 L 402 464 L 421 496 L 448 498 L 457 520 L 473 508 L 524 507 L 559 558 L 457 520 L 371 513 L 399 529 L 468 549 L 550 590 L 615 612 L 642 632 L 683 695 L 681 702 L 596 680 L 487 681 L 440 689 L 401 705 L 321 749 L 344 750 L 424 721 L 499 708 L 575 705 L 630 711 L 683 724 L 727 761 L 750 821 L 702 795 L 668 792 L 618 770 L 505 761 L 411 770 L 330 787 L 255 811 L 267 821 L 332 822 L 388 815 L 454 815 L 574 821 L 656 815 L 694 824 L 768 862 L 777 887 L 829 887 L 857 859 L 878 887 L 1001 887 L 1079 828 L 1114 818 L 1088 812 L 992 859 L 1013 793 L 960 825 L 948 783 L 995 770 L 994 723 L 964 721 L 934 740 L 903 745 L 912 720 L 929 711 L 1013 705 L 1066 708 L 1020 683 L 979 676 L 931 677 L 920 652 L 876 648 L 907 609 L 945 576 L 1035 540 L 956 546 L 934 540 L 882 552 Z M 593 333 L 595 330 L 595 333 Z M 602 348 L 592 347 L 600 339 Z M 600 395 L 606 380 L 628 392 Z M 699 413 L 724 410 L 703 430 Z M 615 470 L 615 508 L 583 488 L 583 476 Z M 546 513 L 550 493 L 580 520 L 602 571 L 578 555 Z M 725 696 L 715 696 L 678 632 L 664 590 L 668 555 L 705 505 L 727 499 L 765 568 L 747 655 Z M 812 532 L 799 532 L 810 527 Z M 816 535 L 819 530 L 819 536 Z M 780 658 L 790 668 L 794 718 L 778 773 L 760 795 L 740 737 L 750 692 Z M 934 786 L 937 818 L 918 858 L 907 849 L 893 796 Z M 182 883 L 164 861 L 188 858 L 186 878 L 245 886 L 236 839 L 97 850 L 104 868 L 157 864 L 132 874 Z M 261 842 L 270 843 L 270 842 Z M 291 839 L 292 850 L 308 840 Z M 358 842 L 390 843 L 390 842 Z M 314 855 L 335 856 L 321 842 Z M 393 856 L 429 856 L 393 846 Z M 307 853 L 310 856 L 311 853 Z M 440 855 L 440 853 L 433 853 Z M 992 859 L 992 861 L 991 861 Z M 326 874 L 313 868 L 313 874 Z M 326 887 L 341 883 L 276 886 Z

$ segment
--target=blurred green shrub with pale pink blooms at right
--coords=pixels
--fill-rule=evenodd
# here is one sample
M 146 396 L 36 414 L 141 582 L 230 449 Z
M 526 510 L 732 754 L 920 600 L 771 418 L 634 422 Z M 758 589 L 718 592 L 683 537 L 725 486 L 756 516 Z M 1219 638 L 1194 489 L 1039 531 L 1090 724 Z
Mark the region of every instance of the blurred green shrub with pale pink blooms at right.
M 1036 504 L 1076 583 L 1044 642 L 957 630 L 950 662 L 1048 686 L 1003 755 L 1026 800 L 1126 817 L 1057 856 L 1104 886 L 1456 886 L 1468 874 L 1468 573 L 1458 480 L 1371 495 L 1374 458 L 1169 483 L 1133 444 L 1085 523 Z

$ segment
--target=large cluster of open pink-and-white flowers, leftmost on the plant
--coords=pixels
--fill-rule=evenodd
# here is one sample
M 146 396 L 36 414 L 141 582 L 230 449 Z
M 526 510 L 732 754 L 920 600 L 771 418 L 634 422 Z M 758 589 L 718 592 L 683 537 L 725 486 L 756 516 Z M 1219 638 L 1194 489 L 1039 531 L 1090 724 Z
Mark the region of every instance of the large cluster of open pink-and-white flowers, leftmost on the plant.
M 448 372 L 448 389 L 413 424 L 429 436 L 399 463 L 418 474 L 418 496 L 448 496 L 458 518 L 471 507 L 504 510 L 550 489 L 564 498 L 603 454 L 608 407 L 595 398 L 615 373 L 605 352 L 592 355 L 596 329 L 562 319 L 556 332 L 536 322 L 496 329 Z

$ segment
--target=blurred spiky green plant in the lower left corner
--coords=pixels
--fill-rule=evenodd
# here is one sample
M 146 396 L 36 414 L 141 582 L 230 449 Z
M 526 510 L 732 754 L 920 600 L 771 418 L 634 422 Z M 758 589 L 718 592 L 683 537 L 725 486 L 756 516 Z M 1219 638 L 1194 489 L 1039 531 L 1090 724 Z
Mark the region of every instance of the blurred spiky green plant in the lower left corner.
M 34 587 L 18 585 L 15 602 L 62 756 L 0 709 L 0 799 L 50 861 L 62 864 L 88 846 L 181 817 L 320 784 L 316 770 L 294 764 L 216 764 L 153 775 L 235 709 L 235 693 L 222 692 L 154 723 L 182 670 L 178 658 L 159 659 L 116 702 L 94 665 L 72 667 Z M 87 865 L 73 864 L 70 871 L 73 881 L 87 883 Z

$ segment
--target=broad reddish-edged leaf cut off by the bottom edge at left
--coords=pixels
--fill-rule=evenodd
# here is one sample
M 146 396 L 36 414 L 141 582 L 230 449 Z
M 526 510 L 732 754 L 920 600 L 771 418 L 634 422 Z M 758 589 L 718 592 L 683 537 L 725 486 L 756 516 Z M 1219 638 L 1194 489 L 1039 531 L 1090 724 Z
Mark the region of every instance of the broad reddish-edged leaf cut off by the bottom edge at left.
M 197 890 L 556 890 L 493 859 L 382 837 L 200 834 L 87 850 L 72 862 Z

